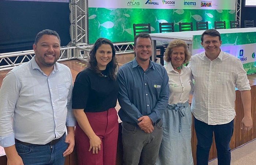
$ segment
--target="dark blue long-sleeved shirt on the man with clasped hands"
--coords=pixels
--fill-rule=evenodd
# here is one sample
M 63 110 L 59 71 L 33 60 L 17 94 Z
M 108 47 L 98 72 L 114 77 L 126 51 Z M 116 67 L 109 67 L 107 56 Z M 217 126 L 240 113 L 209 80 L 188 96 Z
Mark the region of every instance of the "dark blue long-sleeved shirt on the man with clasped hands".
M 131 123 L 139 123 L 142 116 L 153 123 L 161 119 L 169 99 L 168 80 L 165 68 L 155 62 L 150 61 L 145 72 L 136 58 L 121 66 L 117 73 L 120 119 Z

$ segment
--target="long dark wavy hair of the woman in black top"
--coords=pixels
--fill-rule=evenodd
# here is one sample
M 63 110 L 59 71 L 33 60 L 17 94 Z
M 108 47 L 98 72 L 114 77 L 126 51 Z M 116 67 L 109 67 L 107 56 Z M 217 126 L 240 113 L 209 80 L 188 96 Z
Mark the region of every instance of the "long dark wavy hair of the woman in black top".
M 116 51 L 114 49 L 113 43 L 109 39 L 106 39 L 106 38 L 97 39 L 97 41 L 93 46 L 93 49 L 91 49 L 89 53 L 90 59 L 89 59 L 88 68 L 93 70 L 95 73 L 101 73 L 101 71 L 97 66 L 97 60 L 96 60 L 95 54 L 102 44 L 108 44 L 112 48 L 112 60 L 108 63 L 108 65 L 106 66 L 106 69 L 108 70 L 108 77 L 112 80 L 116 80 L 116 71 L 118 67 L 117 60 L 116 60 Z

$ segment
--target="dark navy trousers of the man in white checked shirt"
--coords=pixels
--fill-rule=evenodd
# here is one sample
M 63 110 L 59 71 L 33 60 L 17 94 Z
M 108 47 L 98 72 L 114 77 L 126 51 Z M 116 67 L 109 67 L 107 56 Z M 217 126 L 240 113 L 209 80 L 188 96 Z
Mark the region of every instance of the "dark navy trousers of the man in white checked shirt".
M 214 133 L 218 165 L 230 165 L 230 140 L 234 131 L 234 119 L 227 124 L 208 125 L 194 117 L 197 137 L 196 162 L 197 165 L 208 165 L 209 152 Z

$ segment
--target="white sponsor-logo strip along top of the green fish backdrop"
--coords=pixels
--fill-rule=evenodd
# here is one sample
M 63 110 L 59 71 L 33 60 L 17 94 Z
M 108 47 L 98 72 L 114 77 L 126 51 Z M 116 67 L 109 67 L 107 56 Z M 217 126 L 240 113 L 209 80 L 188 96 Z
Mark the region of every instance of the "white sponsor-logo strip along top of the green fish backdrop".
M 236 0 L 89 0 L 95 8 L 235 10 Z

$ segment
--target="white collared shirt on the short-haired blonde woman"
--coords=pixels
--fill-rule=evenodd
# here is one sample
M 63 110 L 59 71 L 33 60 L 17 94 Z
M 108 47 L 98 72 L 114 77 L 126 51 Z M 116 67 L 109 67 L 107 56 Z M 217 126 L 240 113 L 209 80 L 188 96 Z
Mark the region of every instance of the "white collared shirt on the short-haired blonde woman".
M 178 73 L 173 69 L 171 62 L 168 62 L 164 67 L 169 77 L 170 96 L 168 103 L 177 104 L 187 102 L 189 100 L 189 92 L 192 94 L 194 87 L 191 70 L 182 65 L 181 72 Z

